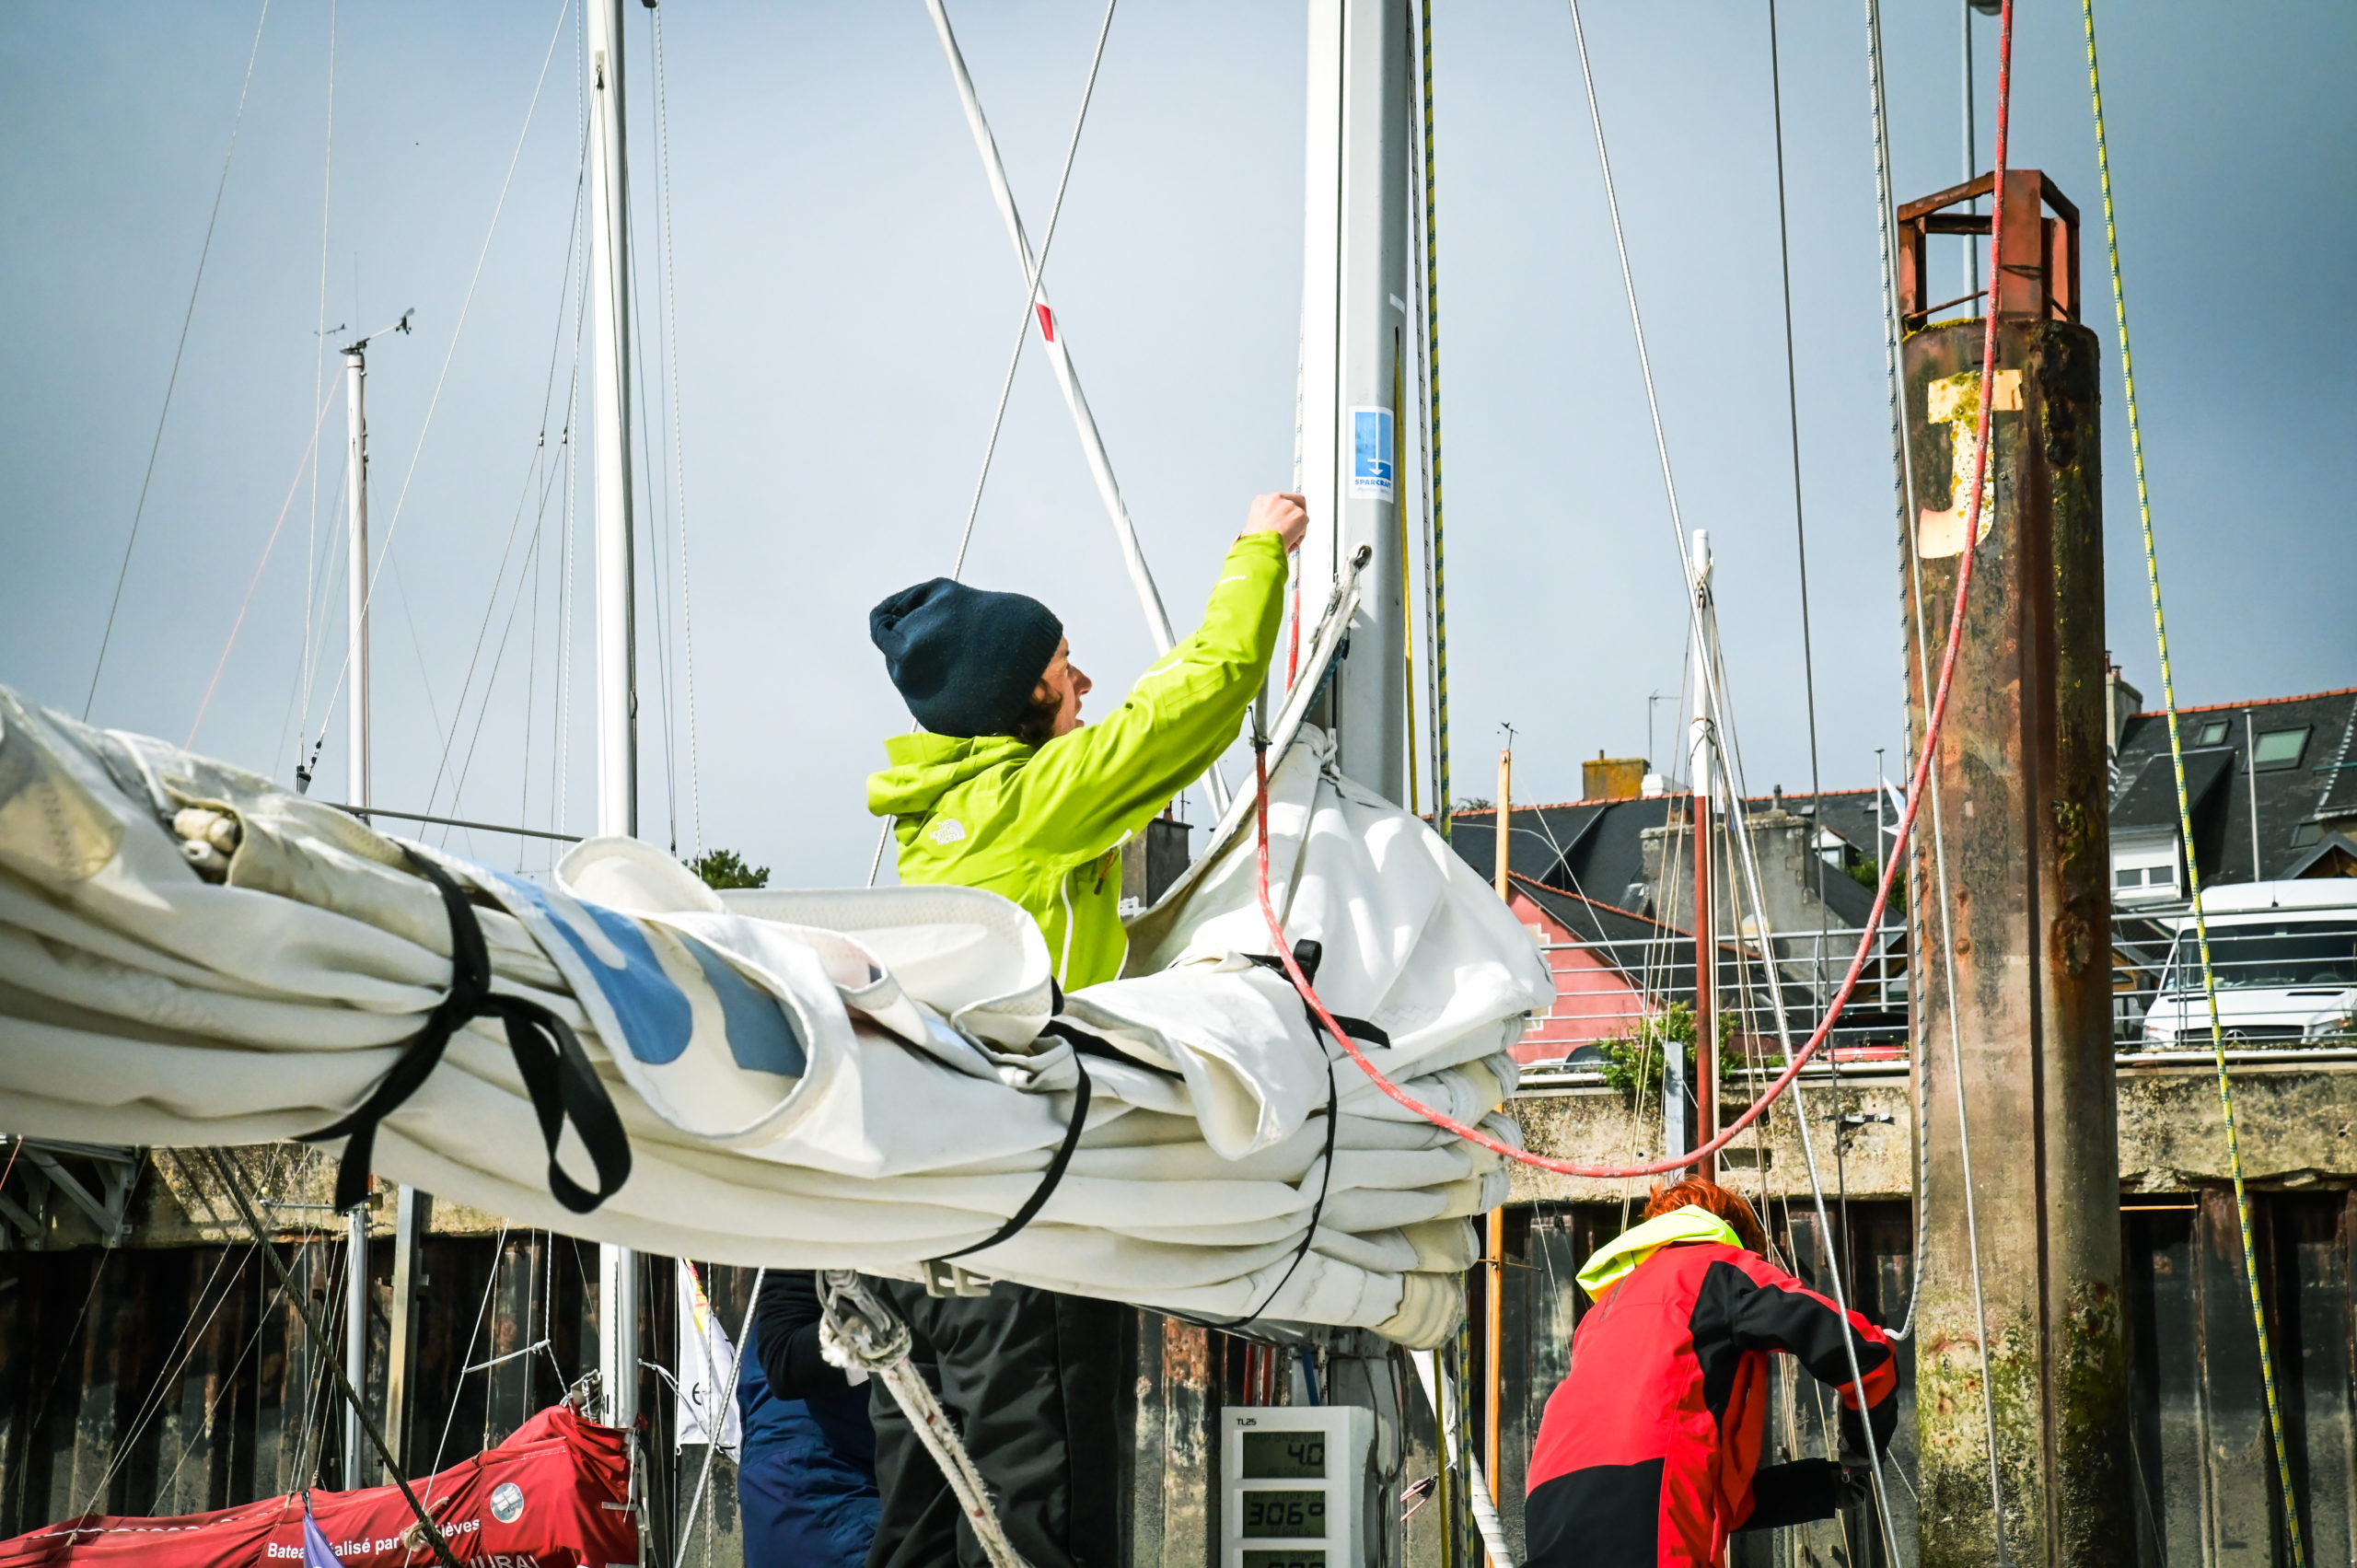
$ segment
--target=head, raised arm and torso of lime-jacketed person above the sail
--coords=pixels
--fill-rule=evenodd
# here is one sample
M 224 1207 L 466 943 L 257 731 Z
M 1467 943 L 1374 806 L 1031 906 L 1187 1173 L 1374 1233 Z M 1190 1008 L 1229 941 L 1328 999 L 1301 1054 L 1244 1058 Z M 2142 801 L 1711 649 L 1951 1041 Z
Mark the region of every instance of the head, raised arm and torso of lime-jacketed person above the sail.
M 1261 495 L 1228 547 L 1202 627 L 1084 724 L 1094 681 L 1037 599 L 933 578 L 867 632 L 924 731 L 884 743 L 867 809 L 893 818 L 900 882 L 988 887 L 1047 936 L 1065 990 L 1122 971 L 1120 846 L 1226 752 L 1268 677 L 1299 495 Z

